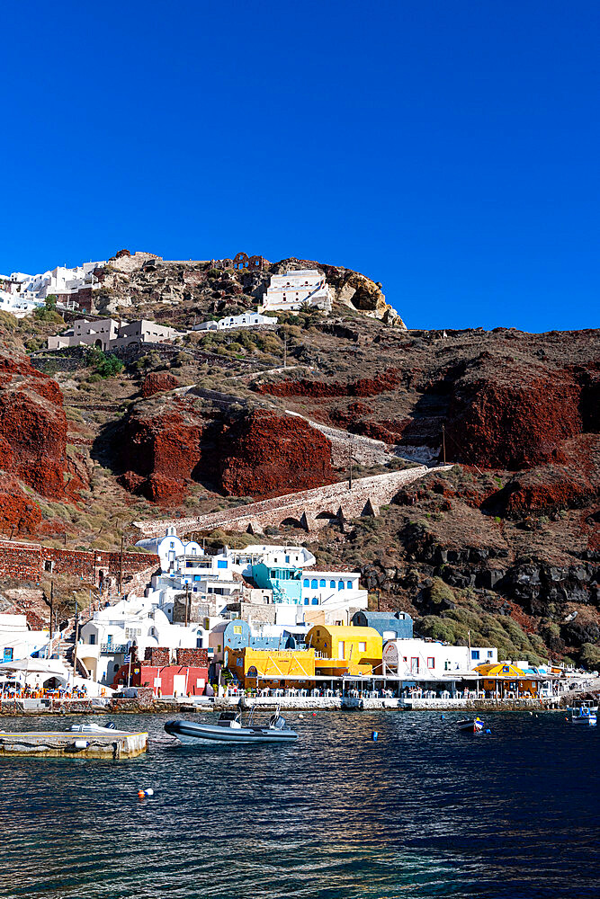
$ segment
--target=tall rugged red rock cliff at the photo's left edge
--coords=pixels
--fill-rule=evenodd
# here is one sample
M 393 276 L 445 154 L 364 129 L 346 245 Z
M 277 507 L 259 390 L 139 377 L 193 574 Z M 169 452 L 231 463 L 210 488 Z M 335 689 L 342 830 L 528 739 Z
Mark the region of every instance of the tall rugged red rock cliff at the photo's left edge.
M 0 356 L 0 466 L 38 493 L 65 495 L 67 419 L 56 381 Z

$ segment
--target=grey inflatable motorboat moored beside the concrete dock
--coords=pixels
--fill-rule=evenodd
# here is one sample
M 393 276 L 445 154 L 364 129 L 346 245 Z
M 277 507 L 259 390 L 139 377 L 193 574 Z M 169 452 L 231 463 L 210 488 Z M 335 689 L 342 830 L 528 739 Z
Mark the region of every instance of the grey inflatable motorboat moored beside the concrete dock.
M 178 719 L 167 721 L 167 734 L 176 736 L 187 745 L 195 743 L 293 743 L 298 734 L 285 723 L 279 709 L 271 716 L 268 725 L 253 725 L 254 708 L 247 724 L 242 722 L 242 713 L 221 712 L 216 725 L 199 724 L 197 721 Z

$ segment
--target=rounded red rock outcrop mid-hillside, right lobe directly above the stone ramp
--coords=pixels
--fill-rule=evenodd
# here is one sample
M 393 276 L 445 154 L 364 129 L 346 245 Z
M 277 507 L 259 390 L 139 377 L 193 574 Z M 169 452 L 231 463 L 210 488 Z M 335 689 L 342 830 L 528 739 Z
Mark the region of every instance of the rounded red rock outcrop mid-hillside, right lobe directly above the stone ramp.
M 219 437 L 222 489 L 268 497 L 336 481 L 331 444 L 302 418 L 263 409 L 238 418 Z

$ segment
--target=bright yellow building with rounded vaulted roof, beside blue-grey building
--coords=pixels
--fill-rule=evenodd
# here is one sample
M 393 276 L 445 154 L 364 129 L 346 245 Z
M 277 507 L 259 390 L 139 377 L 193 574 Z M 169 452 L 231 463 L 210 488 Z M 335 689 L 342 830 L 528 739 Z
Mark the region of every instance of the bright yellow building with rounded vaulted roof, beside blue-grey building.
M 381 674 L 383 641 L 375 628 L 319 624 L 310 628 L 306 642 L 317 650 L 319 674 Z

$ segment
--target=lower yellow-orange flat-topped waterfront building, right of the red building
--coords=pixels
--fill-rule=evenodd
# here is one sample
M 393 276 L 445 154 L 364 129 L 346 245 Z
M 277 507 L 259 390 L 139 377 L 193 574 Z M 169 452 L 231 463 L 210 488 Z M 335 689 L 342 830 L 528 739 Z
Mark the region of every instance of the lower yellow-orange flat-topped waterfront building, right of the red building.
M 291 686 L 312 682 L 315 676 L 314 649 L 230 649 L 228 669 L 246 687 L 256 687 L 264 681 Z

